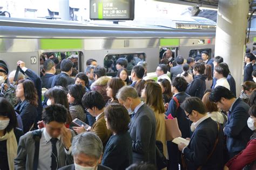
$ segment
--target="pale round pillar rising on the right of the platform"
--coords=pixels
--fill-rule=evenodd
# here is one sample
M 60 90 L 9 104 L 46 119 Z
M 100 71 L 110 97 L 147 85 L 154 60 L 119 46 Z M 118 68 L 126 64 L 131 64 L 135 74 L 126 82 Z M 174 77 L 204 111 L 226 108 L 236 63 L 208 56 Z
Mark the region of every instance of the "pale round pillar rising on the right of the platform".
M 248 11 L 247 0 L 219 0 L 215 56 L 222 56 L 228 64 L 237 96 L 241 91 Z

